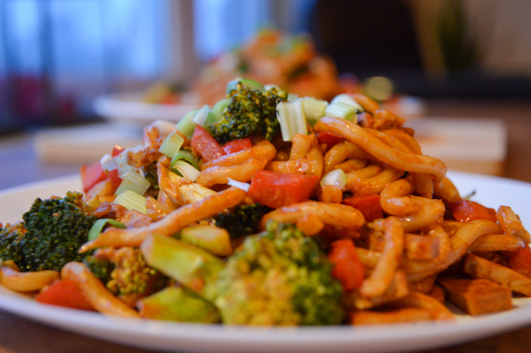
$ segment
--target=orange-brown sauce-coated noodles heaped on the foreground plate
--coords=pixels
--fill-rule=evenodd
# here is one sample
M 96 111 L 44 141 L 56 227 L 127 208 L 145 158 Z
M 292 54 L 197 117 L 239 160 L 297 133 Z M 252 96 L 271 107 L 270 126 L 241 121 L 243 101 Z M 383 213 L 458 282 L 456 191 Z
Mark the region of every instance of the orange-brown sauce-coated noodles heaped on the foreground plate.
M 491 295 L 490 284 L 483 293 L 468 294 L 460 292 L 462 287 L 452 289 L 452 280 L 475 286 L 482 283 L 476 279 L 488 279 L 493 286 L 531 295 L 531 277 L 509 263 L 530 243 L 529 233 L 510 207 L 490 210 L 489 217 L 472 212 L 468 219 L 457 219 L 455 207 L 464 200 L 446 177 L 445 164 L 422 154 L 413 130 L 403 127 L 403 119 L 365 96 L 352 97 L 365 110 L 358 113 L 357 121 L 322 117 L 309 134 L 297 134 L 289 144 L 253 139 L 250 149 L 203 161 L 195 183 L 172 178 L 169 158 L 154 152 L 164 132 L 150 125 L 143 149 L 131 154 L 130 161 L 156 166 L 159 192 L 147 201 L 152 221 L 108 228 L 81 250 L 138 247 L 150 234 L 171 236 L 186 226 L 205 223 L 225 209 L 249 203 L 246 190 L 227 184 L 231 180 L 249 183 L 258 170 L 312 175 L 319 180 L 342 170 L 345 185 L 316 183 L 308 199 L 282 204 L 265 214 L 261 228 L 275 220 L 297 224 L 306 236 L 321 236 L 325 244 L 353 241 L 363 278 L 358 288 L 343 295 L 350 323 L 452 320 L 445 299 L 467 311 Z M 195 185 L 212 193 L 190 201 L 183 190 Z M 86 200 L 101 208 L 113 197 L 100 185 Z M 353 199 L 357 197 L 376 199 L 381 214 L 374 216 L 356 207 Z M 74 278 L 86 275 L 72 267 L 64 272 Z M 466 305 L 459 305 L 459 298 Z M 499 309 L 478 310 L 469 313 Z M 103 312 L 120 315 L 123 309 Z

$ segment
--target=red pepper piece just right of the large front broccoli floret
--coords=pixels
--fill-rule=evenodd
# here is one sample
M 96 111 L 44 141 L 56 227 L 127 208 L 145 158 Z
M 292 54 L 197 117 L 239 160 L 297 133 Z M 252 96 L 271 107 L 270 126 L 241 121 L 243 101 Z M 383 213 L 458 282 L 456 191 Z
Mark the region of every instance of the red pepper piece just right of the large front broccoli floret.
M 327 257 L 333 264 L 332 277 L 341 282 L 345 291 L 361 287 L 364 270 L 352 239 L 334 241 Z

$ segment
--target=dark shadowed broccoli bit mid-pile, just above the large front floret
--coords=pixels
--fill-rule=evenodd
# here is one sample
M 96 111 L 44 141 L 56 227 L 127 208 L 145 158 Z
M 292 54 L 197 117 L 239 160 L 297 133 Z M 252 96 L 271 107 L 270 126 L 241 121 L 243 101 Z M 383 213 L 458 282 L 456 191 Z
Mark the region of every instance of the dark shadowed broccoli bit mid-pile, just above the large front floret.
M 258 224 L 262 216 L 272 210 L 258 202 L 241 204 L 215 215 L 213 219 L 216 226 L 227 229 L 231 238 L 240 238 L 258 233 Z

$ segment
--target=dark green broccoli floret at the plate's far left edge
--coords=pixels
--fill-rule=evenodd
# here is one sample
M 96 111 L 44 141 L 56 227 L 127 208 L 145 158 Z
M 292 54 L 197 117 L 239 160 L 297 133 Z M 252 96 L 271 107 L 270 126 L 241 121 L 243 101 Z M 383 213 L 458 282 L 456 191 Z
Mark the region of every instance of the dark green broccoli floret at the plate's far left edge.
M 70 261 L 81 261 L 85 255 L 77 252 L 87 241 L 95 216 L 87 213 L 79 192 L 66 197 L 35 199 L 23 215 L 23 223 L 11 231 L 2 231 L 2 258 L 13 260 L 21 271 L 55 270 Z

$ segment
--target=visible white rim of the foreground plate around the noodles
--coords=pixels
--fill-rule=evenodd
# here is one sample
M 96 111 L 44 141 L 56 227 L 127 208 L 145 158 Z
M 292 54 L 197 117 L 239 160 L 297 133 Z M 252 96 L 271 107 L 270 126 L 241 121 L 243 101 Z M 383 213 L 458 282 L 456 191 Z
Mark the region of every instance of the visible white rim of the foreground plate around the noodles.
M 489 207 L 513 207 L 525 225 L 531 224 L 531 184 L 469 173 L 449 173 L 462 195 L 476 190 Z M 76 175 L 0 192 L 0 219 L 21 219 L 35 197 L 62 195 L 79 189 Z M 120 320 L 97 313 L 35 303 L 0 287 L 0 308 L 42 323 L 123 345 L 168 351 L 217 352 L 390 352 L 430 349 L 495 335 L 531 323 L 531 299 L 515 299 L 511 311 L 472 318 L 458 315 L 455 323 L 378 325 L 372 327 L 240 328 L 190 325 L 153 320 Z

